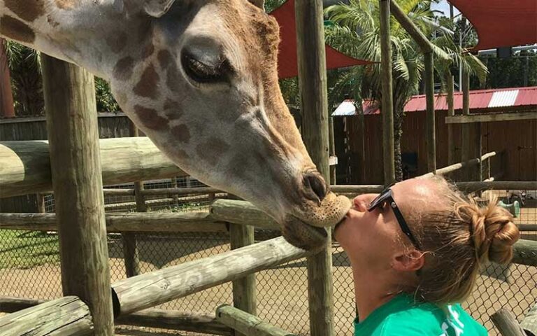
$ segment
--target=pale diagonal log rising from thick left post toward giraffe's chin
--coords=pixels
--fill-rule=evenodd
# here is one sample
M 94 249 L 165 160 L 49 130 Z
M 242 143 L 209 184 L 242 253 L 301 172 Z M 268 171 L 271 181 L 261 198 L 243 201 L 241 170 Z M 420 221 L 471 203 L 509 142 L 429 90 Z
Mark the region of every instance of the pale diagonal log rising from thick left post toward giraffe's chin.
M 120 307 L 115 314 L 120 316 L 154 307 L 306 255 L 308 252 L 279 237 L 123 279 L 112 286 Z

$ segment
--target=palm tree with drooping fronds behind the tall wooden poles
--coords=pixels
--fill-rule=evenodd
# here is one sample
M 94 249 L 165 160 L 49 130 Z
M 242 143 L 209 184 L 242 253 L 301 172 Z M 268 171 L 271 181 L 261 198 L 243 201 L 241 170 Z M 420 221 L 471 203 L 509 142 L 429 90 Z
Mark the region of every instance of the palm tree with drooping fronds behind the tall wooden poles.
M 380 10 L 378 0 L 350 0 L 348 4 L 338 4 L 327 8 L 326 14 L 334 25 L 327 27 L 327 43 L 338 50 L 368 59 L 375 64 L 356 67 L 346 71 L 336 83 L 333 94 L 352 92 L 357 102 L 361 98 L 371 98 L 382 102 L 380 75 Z M 399 0 L 399 6 L 414 24 L 430 36 L 435 45 L 435 70 L 442 80 L 451 66 L 463 66 L 470 73 L 484 80 L 487 68 L 477 57 L 464 54 L 454 42 L 449 27 L 438 25 L 431 11 L 430 0 Z M 391 19 L 392 71 L 394 94 L 394 146 L 396 179 L 403 179 L 401 162 L 401 136 L 404 106 L 408 99 L 419 92 L 424 57 L 413 38 Z M 379 103 L 380 104 L 380 103 Z

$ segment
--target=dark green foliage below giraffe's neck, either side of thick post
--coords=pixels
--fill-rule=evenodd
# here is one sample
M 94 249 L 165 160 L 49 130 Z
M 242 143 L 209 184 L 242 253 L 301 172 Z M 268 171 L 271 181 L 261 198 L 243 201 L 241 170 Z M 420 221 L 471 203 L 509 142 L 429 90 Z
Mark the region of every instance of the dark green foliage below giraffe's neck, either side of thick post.
M 16 116 L 41 116 L 45 113 L 43 81 L 39 52 L 12 41 L 6 41 L 6 55 L 11 75 Z M 97 111 L 117 112 L 120 106 L 105 80 L 95 78 Z

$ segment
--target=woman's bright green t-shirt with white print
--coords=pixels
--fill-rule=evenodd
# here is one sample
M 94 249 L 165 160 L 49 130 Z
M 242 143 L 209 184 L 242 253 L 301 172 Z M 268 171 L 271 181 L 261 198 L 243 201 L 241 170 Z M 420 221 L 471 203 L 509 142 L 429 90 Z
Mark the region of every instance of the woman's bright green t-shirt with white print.
M 400 294 L 358 323 L 355 336 L 486 336 L 487 330 L 460 304 L 444 309 Z

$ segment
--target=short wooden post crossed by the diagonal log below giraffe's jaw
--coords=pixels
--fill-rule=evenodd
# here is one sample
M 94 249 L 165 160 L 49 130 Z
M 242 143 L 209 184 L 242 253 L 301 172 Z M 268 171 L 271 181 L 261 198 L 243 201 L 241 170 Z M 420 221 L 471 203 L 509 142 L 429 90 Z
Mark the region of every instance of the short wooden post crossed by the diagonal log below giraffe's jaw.
M 229 240 L 232 250 L 254 244 L 254 227 L 229 223 Z M 255 273 L 233 281 L 232 285 L 234 307 L 256 315 Z

